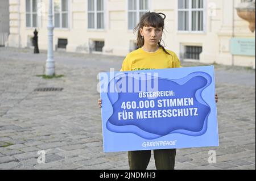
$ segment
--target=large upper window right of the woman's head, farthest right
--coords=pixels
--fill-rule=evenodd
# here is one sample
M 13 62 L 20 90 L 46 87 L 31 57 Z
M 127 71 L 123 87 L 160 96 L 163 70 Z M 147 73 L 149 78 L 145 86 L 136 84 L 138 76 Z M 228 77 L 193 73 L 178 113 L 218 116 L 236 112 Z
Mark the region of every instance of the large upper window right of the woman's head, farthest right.
M 204 0 L 178 0 L 178 30 L 204 31 Z

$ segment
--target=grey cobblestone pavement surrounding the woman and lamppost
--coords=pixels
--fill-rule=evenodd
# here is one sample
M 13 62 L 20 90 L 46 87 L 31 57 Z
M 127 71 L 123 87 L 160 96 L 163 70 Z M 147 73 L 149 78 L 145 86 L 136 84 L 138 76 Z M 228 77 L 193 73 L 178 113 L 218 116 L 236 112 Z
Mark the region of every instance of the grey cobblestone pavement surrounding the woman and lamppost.
M 96 91 L 97 73 L 119 70 L 123 57 L 55 52 L 64 77 L 36 77 L 46 58 L 45 51 L 0 48 L 0 169 L 129 169 L 126 152 L 103 152 Z M 255 70 L 214 67 L 220 146 L 178 149 L 175 168 L 255 169 Z M 34 91 L 40 87 L 63 91 Z M 39 150 L 46 163 L 38 163 Z M 208 163 L 209 150 L 216 163 Z

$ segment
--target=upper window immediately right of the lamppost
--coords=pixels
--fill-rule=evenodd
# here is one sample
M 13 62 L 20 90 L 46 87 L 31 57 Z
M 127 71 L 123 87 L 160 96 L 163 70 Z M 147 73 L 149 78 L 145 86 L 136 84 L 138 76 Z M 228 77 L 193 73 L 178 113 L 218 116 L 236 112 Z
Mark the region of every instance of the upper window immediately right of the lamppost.
M 54 26 L 68 28 L 68 0 L 54 0 Z

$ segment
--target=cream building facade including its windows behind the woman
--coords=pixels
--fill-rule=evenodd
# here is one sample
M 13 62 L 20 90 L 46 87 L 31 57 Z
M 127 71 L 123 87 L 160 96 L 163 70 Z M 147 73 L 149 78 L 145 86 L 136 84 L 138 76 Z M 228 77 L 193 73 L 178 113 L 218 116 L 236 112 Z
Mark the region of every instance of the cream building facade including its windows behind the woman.
M 9 47 L 47 49 L 48 0 L 9 0 Z M 125 56 L 136 48 L 133 28 L 147 11 L 166 14 L 163 40 L 184 61 L 255 69 L 255 23 L 237 15 L 243 0 L 53 0 L 55 50 Z M 255 1 L 254 21 L 255 21 Z

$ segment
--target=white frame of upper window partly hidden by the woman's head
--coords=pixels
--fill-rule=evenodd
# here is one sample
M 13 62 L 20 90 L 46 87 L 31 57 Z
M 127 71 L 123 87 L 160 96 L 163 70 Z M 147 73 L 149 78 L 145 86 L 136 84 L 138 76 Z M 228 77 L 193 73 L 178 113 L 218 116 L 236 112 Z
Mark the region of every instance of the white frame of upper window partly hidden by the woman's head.
M 127 30 L 129 32 L 132 32 L 135 27 L 133 29 L 129 29 L 129 12 L 136 12 L 136 23 L 135 24 L 137 25 L 139 23 L 139 19 L 140 19 L 140 16 L 139 16 L 140 12 L 151 11 L 151 0 L 146 0 L 146 1 L 148 1 L 148 9 L 147 10 L 140 10 L 139 9 L 139 1 L 140 0 L 135 0 L 136 1 L 136 10 L 129 10 L 129 1 L 130 0 L 127 0 L 127 2 L 126 2 L 126 5 L 127 5 L 127 14 L 126 14 L 127 15 Z

